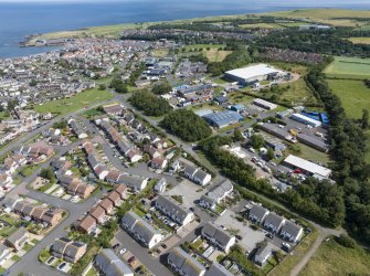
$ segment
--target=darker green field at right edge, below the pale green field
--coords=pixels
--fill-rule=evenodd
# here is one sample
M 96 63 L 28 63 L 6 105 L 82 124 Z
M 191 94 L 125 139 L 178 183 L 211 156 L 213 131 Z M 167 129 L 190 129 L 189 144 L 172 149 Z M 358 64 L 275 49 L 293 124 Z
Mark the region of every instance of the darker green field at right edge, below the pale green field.
M 332 92 L 340 97 L 347 115 L 361 118 L 362 109 L 370 110 L 370 88 L 362 81 L 327 79 Z

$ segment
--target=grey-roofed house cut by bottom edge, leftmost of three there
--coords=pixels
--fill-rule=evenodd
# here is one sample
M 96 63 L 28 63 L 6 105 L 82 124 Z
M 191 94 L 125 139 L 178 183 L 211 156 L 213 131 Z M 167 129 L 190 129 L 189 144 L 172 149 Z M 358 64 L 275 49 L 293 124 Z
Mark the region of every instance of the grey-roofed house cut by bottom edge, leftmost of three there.
M 95 257 L 95 265 L 104 275 L 134 276 L 131 269 L 110 248 L 99 251 Z

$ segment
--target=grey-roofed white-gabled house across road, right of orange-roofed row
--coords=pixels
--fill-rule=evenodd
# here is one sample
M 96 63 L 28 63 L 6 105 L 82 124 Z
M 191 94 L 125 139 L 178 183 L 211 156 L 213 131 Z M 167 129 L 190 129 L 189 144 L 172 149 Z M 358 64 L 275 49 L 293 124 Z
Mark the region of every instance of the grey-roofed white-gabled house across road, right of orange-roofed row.
M 134 212 L 127 212 L 121 226 L 142 246 L 151 248 L 162 241 L 162 235 Z

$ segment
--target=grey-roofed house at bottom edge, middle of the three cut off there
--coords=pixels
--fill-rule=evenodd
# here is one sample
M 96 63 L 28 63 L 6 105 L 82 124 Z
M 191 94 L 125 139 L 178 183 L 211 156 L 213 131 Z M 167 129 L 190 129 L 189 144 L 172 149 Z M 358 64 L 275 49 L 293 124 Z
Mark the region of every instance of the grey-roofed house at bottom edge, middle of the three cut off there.
M 180 247 L 175 247 L 167 256 L 170 268 L 180 275 L 203 276 L 205 268 Z

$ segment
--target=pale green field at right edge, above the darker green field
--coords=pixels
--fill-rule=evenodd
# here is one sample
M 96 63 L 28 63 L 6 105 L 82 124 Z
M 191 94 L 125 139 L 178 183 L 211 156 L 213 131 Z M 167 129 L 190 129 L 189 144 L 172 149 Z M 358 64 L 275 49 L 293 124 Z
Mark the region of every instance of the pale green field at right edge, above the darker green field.
M 328 77 L 364 79 L 370 77 L 370 59 L 336 56 L 324 73 Z

